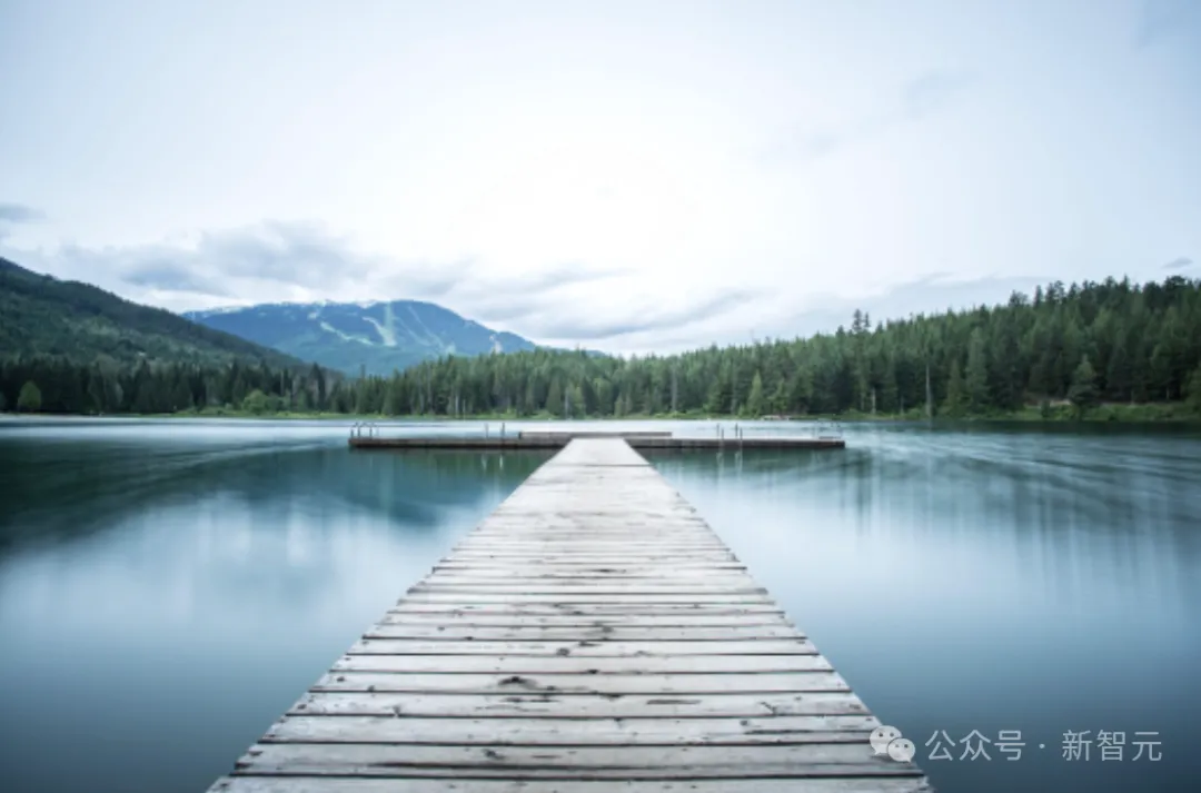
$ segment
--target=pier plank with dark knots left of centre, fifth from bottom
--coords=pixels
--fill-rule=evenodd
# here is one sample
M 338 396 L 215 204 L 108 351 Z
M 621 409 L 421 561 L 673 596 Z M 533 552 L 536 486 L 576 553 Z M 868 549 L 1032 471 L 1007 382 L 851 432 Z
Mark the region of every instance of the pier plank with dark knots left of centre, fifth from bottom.
M 704 694 L 849 691 L 837 672 L 749 674 L 393 674 L 330 672 L 312 691 L 407 691 L 410 693 Z

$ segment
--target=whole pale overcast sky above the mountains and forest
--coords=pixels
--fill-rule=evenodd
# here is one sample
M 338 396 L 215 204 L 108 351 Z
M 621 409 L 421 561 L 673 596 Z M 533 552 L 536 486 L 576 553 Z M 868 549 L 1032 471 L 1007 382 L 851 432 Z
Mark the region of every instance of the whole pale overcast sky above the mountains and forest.
M 0 0 L 0 255 L 616 352 L 1201 273 L 1201 2 Z

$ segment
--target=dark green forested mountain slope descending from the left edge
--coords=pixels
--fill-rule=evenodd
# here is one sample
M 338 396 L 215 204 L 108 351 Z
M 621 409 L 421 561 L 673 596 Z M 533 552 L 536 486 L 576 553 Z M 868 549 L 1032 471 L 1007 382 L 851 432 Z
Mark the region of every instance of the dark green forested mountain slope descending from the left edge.
M 0 358 L 54 356 L 79 363 L 299 366 L 303 362 L 89 284 L 60 281 L 0 258 Z

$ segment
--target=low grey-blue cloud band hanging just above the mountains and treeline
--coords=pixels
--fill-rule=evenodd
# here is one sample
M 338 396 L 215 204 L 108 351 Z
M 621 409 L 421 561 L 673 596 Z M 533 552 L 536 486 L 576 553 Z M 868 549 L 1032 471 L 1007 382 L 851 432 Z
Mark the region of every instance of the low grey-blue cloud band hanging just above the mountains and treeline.
M 199 234 L 187 243 L 53 252 L 5 250 L 18 263 L 94 282 L 175 310 L 277 302 L 426 299 L 543 344 L 614 352 L 679 351 L 707 344 L 829 333 L 855 309 L 879 321 L 1004 302 L 1045 276 L 956 279 L 930 274 L 859 298 L 788 299 L 766 288 L 647 292 L 637 272 L 579 264 L 496 278 L 471 261 L 402 262 L 357 249 L 318 223 L 270 222 Z M 1171 269 L 1191 264 L 1181 258 Z M 603 287 L 603 288 L 602 288 Z M 785 299 L 781 299 L 784 297 Z

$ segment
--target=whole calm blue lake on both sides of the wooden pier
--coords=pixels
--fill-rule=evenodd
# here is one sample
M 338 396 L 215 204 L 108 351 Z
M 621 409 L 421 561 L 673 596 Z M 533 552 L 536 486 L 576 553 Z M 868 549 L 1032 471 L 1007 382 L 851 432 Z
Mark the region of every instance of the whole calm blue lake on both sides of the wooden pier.
M 652 461 L 943 793 L 1199 789 L 1201 436 L 844 429 Z M 0 422 L 0 787 L 203 793 L 548 457 L 346 437 Z M 973 731 L 991 759 L 961 759 Z

